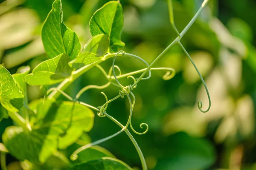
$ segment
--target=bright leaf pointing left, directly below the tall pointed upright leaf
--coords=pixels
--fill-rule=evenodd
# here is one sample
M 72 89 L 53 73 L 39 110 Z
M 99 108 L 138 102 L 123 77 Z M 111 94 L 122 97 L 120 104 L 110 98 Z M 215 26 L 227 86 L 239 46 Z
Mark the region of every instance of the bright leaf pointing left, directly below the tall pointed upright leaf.
M 68 65 L 67 54 L 60 54 L 37 65 L 31 74 L 25 77 L 29 85 L 53 85 L 69 77 L 73 69 Z

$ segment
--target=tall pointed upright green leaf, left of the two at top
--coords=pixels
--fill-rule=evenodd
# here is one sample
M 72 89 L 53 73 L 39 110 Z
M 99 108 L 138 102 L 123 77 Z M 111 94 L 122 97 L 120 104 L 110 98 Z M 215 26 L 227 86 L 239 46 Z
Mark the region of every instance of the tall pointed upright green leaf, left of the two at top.
M 49 58 L 66 53 L 74 59 L 81 51 L 81 44 L 77 34 L 64 25 L 62 17 L 61 1 L 55 0 L 42 28 L 44 48 Z

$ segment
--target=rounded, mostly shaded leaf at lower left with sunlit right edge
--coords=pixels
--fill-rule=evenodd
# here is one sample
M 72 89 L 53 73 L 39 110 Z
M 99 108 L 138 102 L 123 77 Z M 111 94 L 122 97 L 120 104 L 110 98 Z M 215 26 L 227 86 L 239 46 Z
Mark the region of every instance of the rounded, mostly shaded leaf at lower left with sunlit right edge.
M 47 131 L 24 131 L 22 127 L 9 126 L 2 139 L 15 158 L 43 163 L 57 148 L 57 136 L 49 136 L 46 133 Z

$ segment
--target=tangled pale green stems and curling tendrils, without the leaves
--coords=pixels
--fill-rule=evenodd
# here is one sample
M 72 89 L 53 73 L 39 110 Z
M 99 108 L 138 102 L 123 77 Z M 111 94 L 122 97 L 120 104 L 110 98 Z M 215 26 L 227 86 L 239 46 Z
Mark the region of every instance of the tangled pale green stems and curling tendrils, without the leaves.
M 209 0 L 204 0 L 204 2 L 203 2 L 203 4 L 202 4 L 201 8 L 198 10 L 198 12 L 195 14 L 195 16 L 192 18 L 192 20 L 191 20 L 191 21 L 189 22 L 189 24 L 186 26 L 186 28 L 184 28 L 184 30 L 180 33 L 180 32 L 177 30 L 176 26 L 175 26 L 175 22 L 174 22 L 174 18 L 173 18 L 172 0 L 168 0 L 170 22 L 171 22 L 172 27 L 174 28 L 174 30 L 175 30 L 175 32 L 176 32 L 176 34 L 177 34 L 178 37 L 177 37 L 177 38 L 176 38 L 176 39 L 175 39 L 175 40 L 174 40 L 174 41 L 156 58 L 156 59 L 154 59 L 154 61 L 153 61 L 150 65 L 148 65 L 148 63 L 145 62 L 144 59 L 142 59 L 142 58 L 140 58 L 140 57 L 138 57 L 138 56 L 136 56 L 136 55 L 134 55 L 134 54 L 125 53 L 125 51 L 119 51 L 119 52 L 117 52 L 117 53 L 115 54 L 115 56 L 114 56 L 114 58 L 113 58 L 112 67 L 110 68 L 110 71 L 109 71 L 108 74 L 105 72 L 105 70 L 104 70 L 100 65 L 96 65 L 96 67 L 99 68 L 99 69 L 102 71 L 102 73 L 105 75 L 105 77 L 108 79 L 108 83 L 105 84 L 105 85 L 102 85 L 102 86 L 88 85 L 88 86 L 84 87 L 83 89 L 81 89 L 81 91 L 79 91 L 79 93 L 76 95 L 76 99 L 79 99 L 79 97 L 81 96 L 81 94 L 83 94 L 85 91 L 87 91 L 87 90 L 89 90 L 89 89 L 91 89 L 91 88 L 103 89 L 103 88 L 107 88 L 107 87 L 108 87 L 109 85 L 111 85 L 111 84 L 112 84 L 112 85 L 115 85 L 115 86 L 117 86 L 117 87 L 119 87 L 119 88 L 121 88 L 121 89 L 119 90 L 119 95 L 117 95 L 117 96 L 114 97 L 113 99 L 108 100 L 108 98 L 107 98 L 107 97 L 105 96 L 105 94 L 103 93 L 104 96 L 106 97 L 107 101 L 106 101 L 106 103 L 105 103 L 104 105 L 102 105 L 102 106 L 99 107 L 98 109 L 96 109 L 96 108 L 94 108 L 94 107 L 92 107 L 92 106 L 89 106 L 88 104 L 85 104 L 85 103 L 83 103 L 83 102 L 79 102 L 79 101 L 77 101 L 77 102 L 79 102 L 79 103 L 82 104 L 82 105 L 86 105 L 86 106 L 89 106 L 90 108 L 94 109 L 95 111 L 98 112 L 98 116 L 100 116 L 100 117 L 105 117 L 105 116 L 107 116 L 109 119 L 111 119 L 111 120 L 112 120 L 113 122 L 115 122 L 117 125 L 119 125 L 119 126 L 122 128 L 122 130 L 120 130 L 120 131 L 114 133 L 113 135 L 108 136 L 108 137 L 106 137 L 106 138 L 104 138 L 104 139 L 100 139 L 100 140 L 98 140 L 98 141 L 95 141 L 95 142 L 92 142 L 92 143 L 90 143 L 90 144 L 86 144 L 86 145 L 80 147 L 79 149 L 77 149 L 76 151 L 74 151 L 73 154 L 70 156 L 70 158 L 71 158 L 72 160 L 76 160 L 76 159 L 78 158 L 78 153 L 80 153 L 81 151 L 83 151 L 83 150 L 85 150 L 85 149 L 87 149 L 87 148 L 89 148 L 89 147 L 92 147 L 92 146 L 94 146 L 94 145 L 96 145 L 96 144 L 100 144 L 100 143 L 102 143 L 102 142 L 105 142 L 105 141 L 107 141 L 107 140 L 109 140 L 109 139 L 111 139 L 111 138 L 113 138 L 113 137 L 119 135 L 119 134 L 122 133 L 123 131 L 125 131 L 125 133 L 129 136 L 129 138 L 130 138 L 131 141 L 133 142 L 134 146 L 136 147 L 137 152 L 139 153 L 143 170 L 147 170 L 147 166 L 146 166 L 146 163 L 145 163 L 145 158 L 144 158 L 144 156 L 143 156 L 143 153 L 142 153 L 142 151 L 140 150 L 140 147 L 138 146 L 137 142 L 134 140 L 133 136 L 131 135 L 130 131 L 127 129 L 128 126 L 130 125 L 131 130 L 132 130 L 134 133 L 138 134 L 138 135 L 143 135 L 143 134 L 147 133 L 147 131 L 148 131 L 148 125 L 147 125 L 146 123 L 140 124 L 140 127 L 141 127 L 141 128 L 143 128 L 143 126 L 145 126 L 145 128 L 146 128 L 145 131 L 142 132 L 142 133 L 139 133 L 139 132 L 137 132 L 136 130 L 134 130 L 134 127 L 133 127 L 132 124 L 131 124 L 132 112 L 133 112 L 133 108 L 134 108 L 135 101 L 136 101 L 135 96 L 134 96 L 134 94 L 132 93 L 132 91 L 134 90 L 134 88 L 136 88 L 136 86 L 137 86 L 137 84 L 140 82 L 140 80 L 149 79 L 149 78 L 151 77 L 151 71 L 152 71 L 152 70 L 166 70 L 167 73 L 163 76 L 163 79 L 164 79 L 164 80 L 172 79 L 172 78 L 175 76 L 175 70 L 174 70 L 173 68 L 152 68 L 152 67 L 153 67 L 153 65 L 154 65 L 161 57 L 163 57 L 163 55 L 164 55 L 170 48 L 172 48 L 172 46 L 175 45 L 176 43 L 177 43 L 178 45 L 180 45 L 180 47 L 182 48 L 182 50 L 183 50 L 183 51 L 185 52 L 185 54 L 189 57 L 190 61 L 192 62 L 193 66 L 195 67 L 196 71 L 198 72 L 198 75 L 199 75 L 199 77 L 201 78 L 201 81 L 203 82 L 204 87 L 205 87 L 205 89 L 206 89 L 206 91 L 207 91 L 207 96 L 208 96 L 208 99 L 209 99 L 209 106 L 208 106 L 207 110 L 206 110 L 206 111 L 203 111 L 203 110 L 201 109 L 202 106 L 203 106 L 203 104 L 202 104 L 201 101 L 198 101 L 198 108 L 199 108 L 200 111 L 203 112 L 203 113 L 209 111 L 209 109 L 210 109 L 210 107 L 211 107 L 211 100 L 210 100 L 210 96 L 209 96 L 209 91 L 208 91 L 208 89 L 207 89 L 207 85 L 205 84 L 203 77 L 201 76 L 201 74 L 200 74 L 198 68 L 196 67 L 196 65 L 195 65 L 195 63 L 193 62 L 192 58 L 190 57 L 189 53 L 186 51 L 186 49 L 183 47 L 183 45 L 182 45 L 181 42 L 180 42 L 181 38 L 184 36 L 184 34 L 186 33 L 186 31 L 188 31 L 188 29 L 192 26 L 192 24 L 193 24 L 193 23 L 195 22 L 195 20 L 198 18 L 199 14 L 201 14 L 201 11 L 203 10 L 204 6 L 205 6 L 208 2 L 209 2 Z M 107 55 L 108 55 L 108 54 L 107 54 Z M 118 56 L 120 56 L 120 57 L 134 57 L 134 58 L 136 58 L 136 59 L 139 59 L 141 62 L 143 62 L 143 63 L 147 66 L 147 68 L 142 69 L 142 70 L 138 70 L 138 71 L 134 71 L 134 72 L 131 72 L 131 73 L 123 74 L 123 75 L 122 75 L 122 73 L 121 73 L 121 71 L 120 71 L 120 68 L 119 68 L 117 65 L 115 65 L 115 60 L 116 60 L 116 57 L 118 57 Z M 116 76 L 115 68 L 119 71 L 119 75 L 118 75 L 118 76 Z M 111 75 L 111 71 L 112 71 L 113 75 Z M 132 75 L 134 75 L 134 74 L 140 74 L 141 72 L 142 72 L 142 74 L 141 74 L 141 76 L 140 76 L 139 78 L 134 78 L 134 77 L 132 76 Z M 144 77 L 145 74 L 147 74 L 147 73 L 148 73 L 148 77 Z M 133 79 L 133 80 L 134 80 L 134 84 L 133 84 L 133 85 L 127 85 L 127 86 L 121 85 L 121 83 L 118 81 L 118 79 L 124 78 L 124 77 Z M 113 80 L 115 80 L 115 82 L 113 82 Z M 61 86 L 64 86 L 64 85 L 61 85 Z M 65 87 L 65 86 L 64 86 L 64 87 Z M 59 90 L 59 89 L 63 89 L 63 88 L 60 87 L 60 88 L 57 88 L 57 89 Z M 56 89 L 56 91 L 58 91 L 57 89 Z M 64 92 L 61 92 L 61 94 L 64 94 Z M 130 95 L 132 96 L 132 99 L 131 99 Z M 52 94 L 51 96 L 58 96 L 58 93 L 55 92 L 55 93 Z M 67 96 L 67 94 L 64 94 L 64 96 Z M 127 122 L 127 124 L 126 124 L 125 126 L 121 125 L 116 119 L 114 119 L 112 116 L 110 116 L 110 115 L 107 114 L 107 112 L 106 112 L 106 109 L 107 109 L 108 104 L 109 104 L 110 102 L 113 102 L 114 100 L 118 99 L 119 97 L 124 98 L 124 96 L 127 96 L 128 102 L 129 102 L 129 105 L 130 105 L 130 116 L 129 116 L 128 122 Z M 70 99 L 70 97 L 68 97 L 68 98 Z M 71 99 L 72 99 L 72 98 L 71 98 Z

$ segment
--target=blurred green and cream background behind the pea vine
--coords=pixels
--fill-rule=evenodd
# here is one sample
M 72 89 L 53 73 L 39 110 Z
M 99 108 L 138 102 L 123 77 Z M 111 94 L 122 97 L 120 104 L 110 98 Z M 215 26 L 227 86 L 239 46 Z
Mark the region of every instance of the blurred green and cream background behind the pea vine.
M 203 0 L 173 0 L 177 28 L 181 31 Z M 41 26 L 53 0 L 0 0 L 0 60 L 14 74 L 22 65 L 33 69 L 47 59 L 41 42 Z M 96 9 L 108 0 L 62 0 L 65 24 L 78 35 L 82 45 L 90 38 L 88 23 Z M 120 0 L 124 9 L 124 51 L 148 63 L 175 39 L 169 23 L 166 0 Z M 208 107 L 207 94 L 188 57 L 175 45 L 157 67 L 172 67 L 177 75 L 162 79 L 154 71 L 149 80 L 134 89 L 136 106 L 133 126 L 149 125 L 145 135 L 134 135 L 149 170 L 256 170 L 256 0 L 210 0 L 181 42 L 201 71 L 212 99 L 208 113 L 201 113 L 197 101 Z M 102 66 L 108 70 L 112 60 Z M 122 72 L 144 66 L 134 59 L 118 58 Z M 97 68 L 76 80 L 67 93 L 75 96 L 86 85 L 106 83 Z M 123 80 L 127 85 L 131 82 Z M 109 98 L 115 87 L 104 90 Z M 29 86 L 29 101 L 43 96 L 37 86 Z M 90 90 L 81 101 L 104 104 L 101 91 Z M 128 118 L 127 99 L 111 103 L 107 112 L 122 123 Z M 0 135 L 12 125 L 0 124 Z M 92 141 L 117 131 L 107 118 L 96 116 Z M 118 159 L 140 170 L 139 156 L 125 133 L 101 144 Z M 9 170 L 20 170 L 8 155 Z

